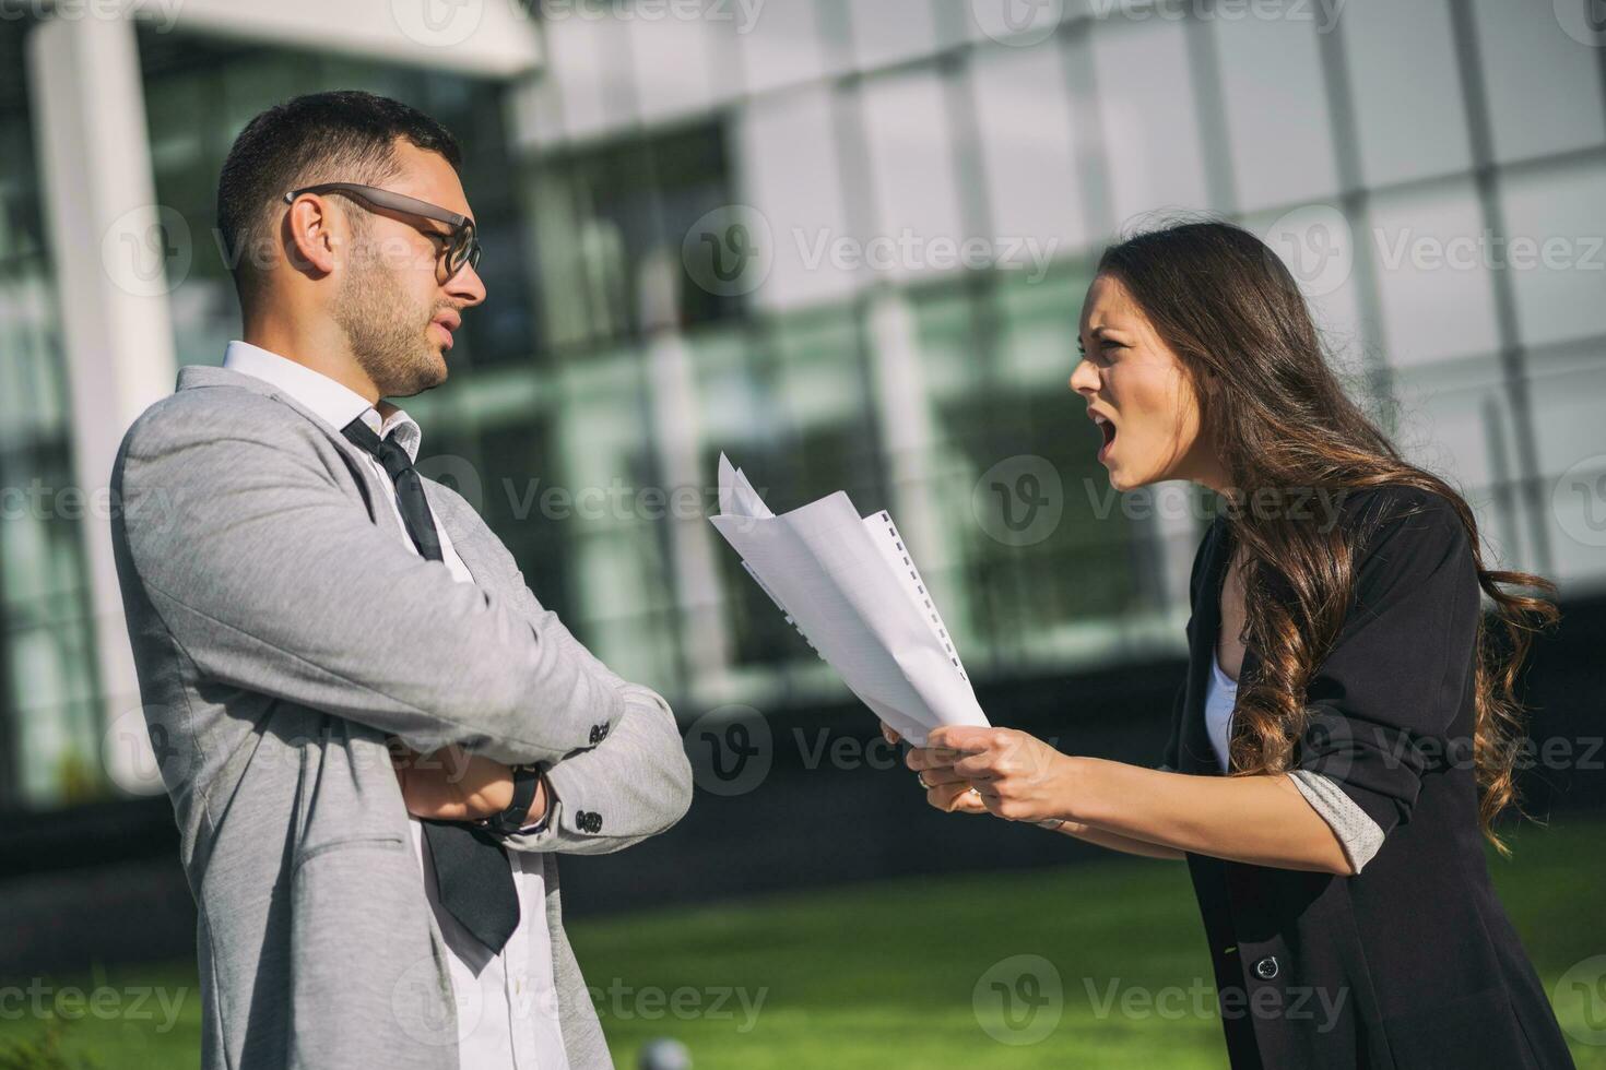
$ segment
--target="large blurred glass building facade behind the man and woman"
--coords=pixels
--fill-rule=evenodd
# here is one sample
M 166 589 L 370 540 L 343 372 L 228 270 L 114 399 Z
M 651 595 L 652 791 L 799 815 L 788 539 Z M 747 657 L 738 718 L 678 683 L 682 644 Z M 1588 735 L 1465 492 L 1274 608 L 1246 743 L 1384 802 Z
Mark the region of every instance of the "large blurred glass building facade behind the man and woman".
M 233 136 L 289 95 L 369 88 L 459 135 L 490 300 L 450 383 L 403 403 L 422 467 L 691 720 L 845 695 L 707 523 L 721 452 L 777 510 L 890 509 L 978 683 L 1180 651 L 1196 499 L 1115 497 L 1066 387 L 1099 252 L 1156 212 L 1264 234 L 1490 550 L 1606 586 L 1606 48 L 1550 0 L 1243 6 L 554 5 L 512 82 L 181 30 L 143 30 L 140 61 L 157 197 L 194 236 Z M 0 111 L 6 488 L 71 472 L 22 91 Z M 218 363 L 239 324 L 215 245 L 169 302 L 180 363 Z M 67 797 L 69 741 L 100 730 L 75 539 L 10 513 L 0 536 L 13 802 Z

